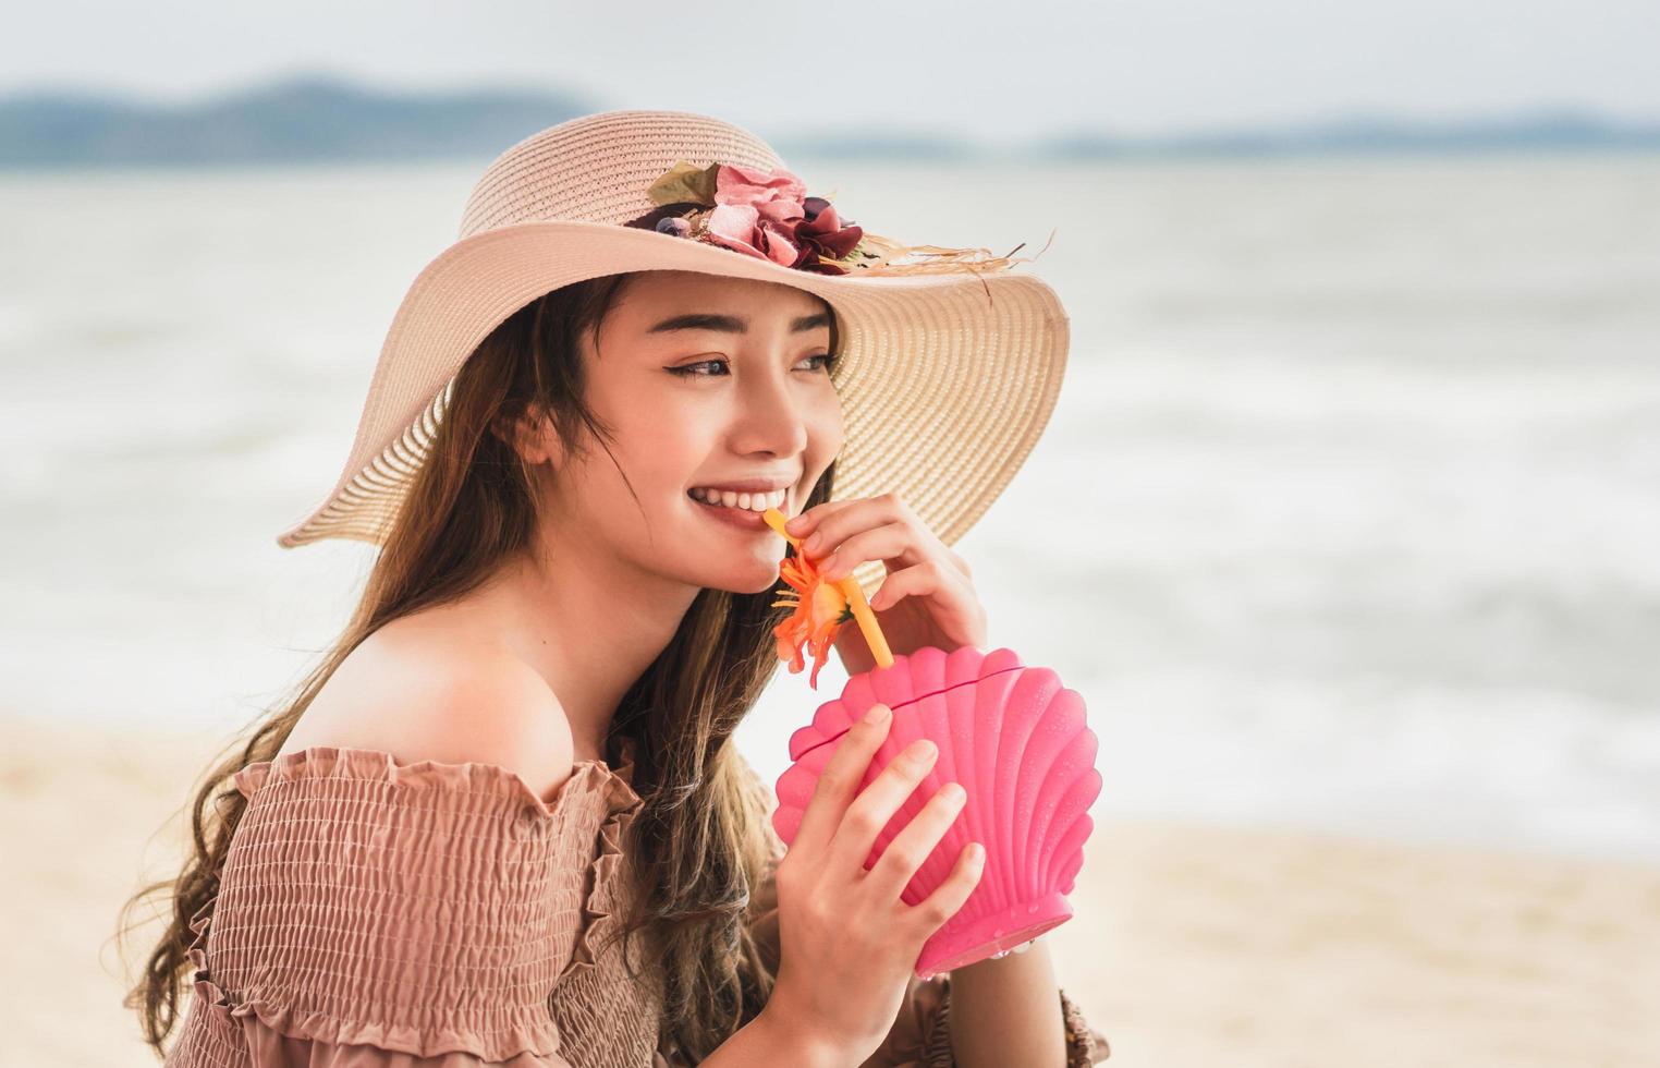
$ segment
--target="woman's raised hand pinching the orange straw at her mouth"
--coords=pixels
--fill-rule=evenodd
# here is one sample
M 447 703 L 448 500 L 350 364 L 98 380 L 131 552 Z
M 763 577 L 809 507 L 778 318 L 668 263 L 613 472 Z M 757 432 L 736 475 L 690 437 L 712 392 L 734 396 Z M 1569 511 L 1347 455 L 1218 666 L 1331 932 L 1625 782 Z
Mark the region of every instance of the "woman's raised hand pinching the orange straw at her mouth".
M 968 561 L 936 538 L 898 493 L 813 505 L 785 530 L 805 535 L 802 550 L 830 581 L 850 576 L 867 560 L 881 561 L 886 576 L 870 608 L 895 656 L 930 644 L 946 653 L 964 644 L 984 648 L 986 610 Z M 835 649 L 850 674 L 876 664 L 855 621 L 840 626 Z

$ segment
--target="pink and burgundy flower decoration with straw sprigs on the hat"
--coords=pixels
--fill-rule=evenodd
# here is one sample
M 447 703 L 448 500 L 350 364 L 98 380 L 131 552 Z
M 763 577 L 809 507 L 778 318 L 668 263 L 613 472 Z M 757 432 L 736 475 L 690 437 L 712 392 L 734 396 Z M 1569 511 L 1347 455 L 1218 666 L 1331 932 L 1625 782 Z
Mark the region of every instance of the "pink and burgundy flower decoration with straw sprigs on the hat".
M 672 238 L 702 241 L 734 252 L 813 274 L 933 274 L 1003 271 L 1008 256 L 989 249 L 900 244 L 842 218 L 823 196 L 808 196 L 800 178 L 784 168 L 764 171 L 735 163 L 676 163 L 646 191 L 657 204 L 624 223 Z M 1051 239 L 1054 234 L 1051 234 Z M 1047 246 L 1044 246 L 1047 247 Z M 901 261 L 925 256 L 921 261 Z

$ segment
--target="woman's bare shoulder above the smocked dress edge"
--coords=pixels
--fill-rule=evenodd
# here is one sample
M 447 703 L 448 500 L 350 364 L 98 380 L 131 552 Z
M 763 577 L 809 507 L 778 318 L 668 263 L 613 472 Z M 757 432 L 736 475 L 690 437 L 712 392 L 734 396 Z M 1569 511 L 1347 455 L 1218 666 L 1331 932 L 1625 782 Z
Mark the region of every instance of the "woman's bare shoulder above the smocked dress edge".
M 378 749 L 398 764 L 496 764 L 538 797 L 571 776 L 571 724 L 548 683 L 501 646 L 427 620 L 398 620 L 352 649 L 282 752 Z

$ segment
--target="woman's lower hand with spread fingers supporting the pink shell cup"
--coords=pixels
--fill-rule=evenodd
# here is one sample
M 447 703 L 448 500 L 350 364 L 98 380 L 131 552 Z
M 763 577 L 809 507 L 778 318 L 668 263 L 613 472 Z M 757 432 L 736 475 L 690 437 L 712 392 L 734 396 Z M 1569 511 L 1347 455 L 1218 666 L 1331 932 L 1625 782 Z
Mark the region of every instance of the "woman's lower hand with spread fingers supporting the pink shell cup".
M 916 905 L 900 900 L 963 809 L 963 787 L 948 782 L 865 870 L 876 835 L 938 756 L 933 742 L 911 742 L 860 791 L 891 723 L 891 709 L 876 704 L 842 736 L 775 872 L 779 975 L 764 1012 L 848 1063 L 886 1038 L 923 943 L 956 915 L 984 867 L 984 847 L 971 844 L 933 894 Z

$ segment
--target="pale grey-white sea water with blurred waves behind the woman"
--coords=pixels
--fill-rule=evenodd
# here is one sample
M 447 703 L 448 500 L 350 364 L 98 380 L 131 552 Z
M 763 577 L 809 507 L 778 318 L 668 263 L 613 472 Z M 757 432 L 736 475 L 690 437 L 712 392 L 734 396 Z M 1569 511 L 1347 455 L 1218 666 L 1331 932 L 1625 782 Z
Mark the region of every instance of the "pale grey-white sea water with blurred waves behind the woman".
M 314 661 L 369 555 L 274 538 L 483 163 L 0 176 L 0 714 L 227 737 Z M 797 169 L 1056 231 L 1066 385 L 956 548 L 1097 814 L 1660 859 L 1660 158 Z

